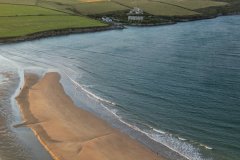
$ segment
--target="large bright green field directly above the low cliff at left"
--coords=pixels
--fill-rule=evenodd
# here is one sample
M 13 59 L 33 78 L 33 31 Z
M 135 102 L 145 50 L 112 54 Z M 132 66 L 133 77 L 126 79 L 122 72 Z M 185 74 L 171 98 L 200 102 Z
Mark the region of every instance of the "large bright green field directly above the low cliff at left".
M 0 37 L 16 37 L 47 30 L 106 26 L 106 24 L 79 16 L 21 16 L 1 17 L 0 26 Z

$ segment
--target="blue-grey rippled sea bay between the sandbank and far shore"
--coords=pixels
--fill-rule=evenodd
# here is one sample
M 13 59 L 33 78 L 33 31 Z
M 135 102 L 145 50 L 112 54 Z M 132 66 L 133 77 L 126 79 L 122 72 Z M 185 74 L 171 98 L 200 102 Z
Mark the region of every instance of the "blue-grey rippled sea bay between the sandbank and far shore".
M 239 160 L 239 28 L 240 16 L 228 16 L 48 38 L 0 51 L 24 69 L 67 74 L 96 101 L 95 109 L 108 107 L 186 158 Z

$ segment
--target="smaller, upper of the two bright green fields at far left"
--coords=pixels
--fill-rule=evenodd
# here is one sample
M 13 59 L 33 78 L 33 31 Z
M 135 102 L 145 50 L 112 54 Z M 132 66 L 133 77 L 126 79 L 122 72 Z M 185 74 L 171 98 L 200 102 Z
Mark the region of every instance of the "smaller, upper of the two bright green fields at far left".
M 50 9 L 37 6 L 0 4 L 0 16 L 23 16 L 23 15 L 66 15 Z

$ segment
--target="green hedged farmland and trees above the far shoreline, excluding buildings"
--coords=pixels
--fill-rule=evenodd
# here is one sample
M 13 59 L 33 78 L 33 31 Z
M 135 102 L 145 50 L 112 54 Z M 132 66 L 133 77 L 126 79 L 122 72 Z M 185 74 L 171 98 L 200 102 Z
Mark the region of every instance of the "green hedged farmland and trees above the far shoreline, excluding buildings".
M 131 24 L 133 7 L 143 24 L 164 24 L 240 13 L 238 0 L 0 0 L 0 39 L 67 28 L 102 27 L 101 17 Z M 135 22 L 136 23 L 136 22 Z

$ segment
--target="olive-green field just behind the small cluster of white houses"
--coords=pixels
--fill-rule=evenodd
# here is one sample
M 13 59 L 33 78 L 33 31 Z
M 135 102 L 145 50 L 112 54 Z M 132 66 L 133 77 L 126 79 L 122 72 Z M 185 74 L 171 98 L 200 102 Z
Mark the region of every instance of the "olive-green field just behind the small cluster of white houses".
M 129 10 L 129 8 L 111 1 L 80 3 L 75 5 L 75 8 L 79 13 L 83 15 Z

